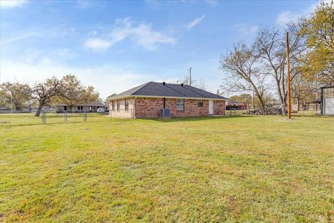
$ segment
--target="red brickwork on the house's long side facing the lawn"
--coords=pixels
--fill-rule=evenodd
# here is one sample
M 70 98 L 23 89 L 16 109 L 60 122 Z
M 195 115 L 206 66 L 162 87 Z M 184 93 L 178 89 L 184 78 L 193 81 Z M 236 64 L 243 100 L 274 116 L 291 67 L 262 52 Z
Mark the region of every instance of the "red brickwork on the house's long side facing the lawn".
M 209 100 L 203 100 L 203 106 L 198 107 L 198 100 L 184 99 L 184 111 L 176 110 L 177 99 L 166 98 L 166 109 L 170 109 L 172 117 L 191 117 L 209 115 Z M 218 102 L 218 104 L 217 104 Z M 136 98 L 135 116 L 137 118 L 158 117 L 164 107 L 163 98 Z M 214 114 L 225 114 L 225 101 L 214 100 Z

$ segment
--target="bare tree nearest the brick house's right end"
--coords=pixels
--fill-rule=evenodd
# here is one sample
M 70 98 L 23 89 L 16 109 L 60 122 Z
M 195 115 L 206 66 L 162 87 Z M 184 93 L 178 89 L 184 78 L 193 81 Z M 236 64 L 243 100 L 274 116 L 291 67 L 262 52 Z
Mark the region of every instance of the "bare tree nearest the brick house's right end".
M 228 77 L 224 79 L 226 84 L 222 85 L 221 89 L 254 92 L 261 107 L 264 107 L 264 92 L 269 88 L 266 82 L 267 74 L 257 68 L 258 58 L 254 56 L 253 50 L 244 44 L 238 44 L 221 56 L 220 69 L 228 73 Z

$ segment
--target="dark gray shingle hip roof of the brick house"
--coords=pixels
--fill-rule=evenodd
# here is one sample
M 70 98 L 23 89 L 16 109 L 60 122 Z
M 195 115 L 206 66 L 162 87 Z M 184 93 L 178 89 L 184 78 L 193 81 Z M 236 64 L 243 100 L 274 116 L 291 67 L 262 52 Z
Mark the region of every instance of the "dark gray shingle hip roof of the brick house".
M 129 89 L 110 98 L 125 98 L 129 96 L 159 96 L 159 97 L 175 97 L 175 98 L 211 98 L 211 99 L 227 99 L 220 95 L 198 89 L 193 86 L 180 84 L 162 84 L 157 82 L 148 82 Z

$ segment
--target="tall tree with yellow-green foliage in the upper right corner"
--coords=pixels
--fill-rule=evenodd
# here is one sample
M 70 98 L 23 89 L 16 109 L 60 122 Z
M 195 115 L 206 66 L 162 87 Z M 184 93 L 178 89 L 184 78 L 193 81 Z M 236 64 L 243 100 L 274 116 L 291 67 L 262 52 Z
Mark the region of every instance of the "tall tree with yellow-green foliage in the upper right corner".
M 303 56 L 303 74 L 323 84 L 334 83 L 334 3 L 321 1 L 311 17 L 301 21 L 308 53 Z

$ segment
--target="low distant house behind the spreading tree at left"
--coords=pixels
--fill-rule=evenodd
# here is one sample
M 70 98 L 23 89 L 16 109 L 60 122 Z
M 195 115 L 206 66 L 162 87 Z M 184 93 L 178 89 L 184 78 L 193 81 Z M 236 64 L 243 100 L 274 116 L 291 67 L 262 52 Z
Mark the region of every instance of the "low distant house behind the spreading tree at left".
M 67 104 L 56 104 L 53 106 L 57 113 L 64 112 L 96 112 L 98 108 L 103 107 L 106 109 L 106 106 L 101 102 L 87 102 L 87 103 L 79 103 L 78 105 L 67 105 Z

